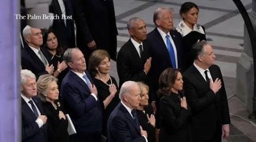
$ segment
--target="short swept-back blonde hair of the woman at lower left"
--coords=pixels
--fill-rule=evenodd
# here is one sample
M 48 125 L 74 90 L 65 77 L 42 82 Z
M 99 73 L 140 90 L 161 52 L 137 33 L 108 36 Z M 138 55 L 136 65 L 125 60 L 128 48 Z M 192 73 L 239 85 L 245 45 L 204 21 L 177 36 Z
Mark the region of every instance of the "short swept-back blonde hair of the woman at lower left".
M 50 74 L 44 74 L 38 78 L 38 82 L 36 82 L 36 86 L 38 87 L 38 97 L 46 102 L 46 89 L 48 84 L 52 81 L 57 83 L 57 78 L 53 77 Z

